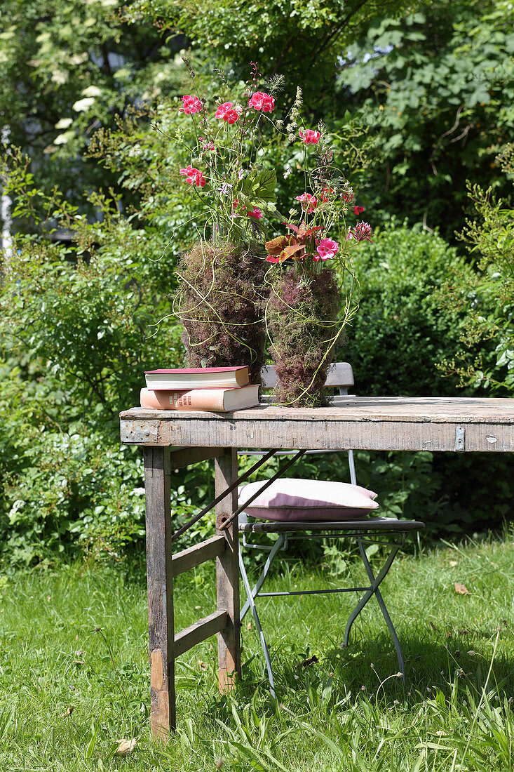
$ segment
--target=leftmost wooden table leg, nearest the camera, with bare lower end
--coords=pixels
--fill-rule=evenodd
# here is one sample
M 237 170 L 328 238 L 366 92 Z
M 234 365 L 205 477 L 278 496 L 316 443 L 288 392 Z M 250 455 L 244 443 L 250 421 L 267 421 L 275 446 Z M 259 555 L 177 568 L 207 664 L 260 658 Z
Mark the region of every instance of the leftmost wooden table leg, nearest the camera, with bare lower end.
M 154 736 L 167 740 L 176 726 L 169 448 L 144 448 L 144 489 L 150 630 L 150 728 Z

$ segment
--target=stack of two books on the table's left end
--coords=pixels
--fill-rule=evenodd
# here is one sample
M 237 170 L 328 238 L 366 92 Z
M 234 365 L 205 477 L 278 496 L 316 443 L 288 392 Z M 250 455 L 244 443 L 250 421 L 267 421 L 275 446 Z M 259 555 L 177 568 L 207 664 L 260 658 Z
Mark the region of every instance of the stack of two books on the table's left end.
M 259 405 L 259 386 L 250 384 L 245 366 L 149 370 L 144 375 L 142 408 L 226 413 Z

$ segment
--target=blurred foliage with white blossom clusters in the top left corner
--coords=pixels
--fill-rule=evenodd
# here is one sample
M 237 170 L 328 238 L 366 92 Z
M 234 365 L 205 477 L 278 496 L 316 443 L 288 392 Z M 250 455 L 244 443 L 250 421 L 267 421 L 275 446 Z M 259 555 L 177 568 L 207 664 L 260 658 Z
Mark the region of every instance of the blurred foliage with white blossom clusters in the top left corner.
M 106 182 L 84 156 L 93 128 L 181 90 L 184 81 L 175 63 L 184 38 L 123 21 L 117 5 L 2 2 L 0 123 L 10 143 L 31 155 L 39 185 L 58 182 L 76 203 L 83 188 Z

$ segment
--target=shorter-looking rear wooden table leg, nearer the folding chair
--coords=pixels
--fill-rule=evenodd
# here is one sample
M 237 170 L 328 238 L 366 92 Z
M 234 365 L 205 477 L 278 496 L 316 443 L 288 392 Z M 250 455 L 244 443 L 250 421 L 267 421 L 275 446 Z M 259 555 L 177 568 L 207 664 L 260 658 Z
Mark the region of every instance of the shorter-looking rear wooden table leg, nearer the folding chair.
M 215 496 L 223 493 L 238 475 L 235 449 L 215 459 Z M 228 611 L 228 624 L 218 633 L 218 682 L 220 692 L 231 689 L 235 674 L 241 677 L 241 642 L 239 625 L 239 541 L 238 518 L 219 530 L 224 520 L 237 509 L 237 489 L 216 505 L 216 533 L 225 536 L 225 552 L 216 558 L 216 597 L 218 611 Z

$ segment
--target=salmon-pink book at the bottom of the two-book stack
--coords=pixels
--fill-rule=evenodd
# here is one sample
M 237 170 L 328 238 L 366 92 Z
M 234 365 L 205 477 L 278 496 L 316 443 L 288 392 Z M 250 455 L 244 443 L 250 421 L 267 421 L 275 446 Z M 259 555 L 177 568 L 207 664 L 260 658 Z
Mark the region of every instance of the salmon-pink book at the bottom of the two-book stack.
M 150 410 L 204 410 L 228 413 L 259 405 L 259 386 L 250 384 L 235 388 L 195 388 L 188 391 L 154 391 L 142 388 L 140 402 L 142 408 Z

